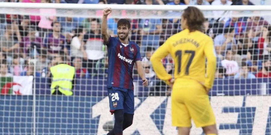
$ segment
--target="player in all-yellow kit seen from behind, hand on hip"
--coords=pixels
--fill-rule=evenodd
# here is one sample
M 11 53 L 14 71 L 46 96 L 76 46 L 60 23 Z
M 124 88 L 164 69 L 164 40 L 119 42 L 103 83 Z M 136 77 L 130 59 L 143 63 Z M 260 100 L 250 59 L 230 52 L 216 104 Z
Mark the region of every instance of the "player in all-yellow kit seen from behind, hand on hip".
M 187 7 L 181 16 L 182 31 L 168 38 L 151 56 L 156 75 L 173 89 L 172 125 L 178 127 L 179 135 L 189 135 L 191 119 L 206 135 L 217 135 L 208 97 L 216 71 L 216 54 L 212 39 L 201 32 L 203 22 L 198 8 Z M 168 54 L 174 60 L 174 79 L 161 63 Z

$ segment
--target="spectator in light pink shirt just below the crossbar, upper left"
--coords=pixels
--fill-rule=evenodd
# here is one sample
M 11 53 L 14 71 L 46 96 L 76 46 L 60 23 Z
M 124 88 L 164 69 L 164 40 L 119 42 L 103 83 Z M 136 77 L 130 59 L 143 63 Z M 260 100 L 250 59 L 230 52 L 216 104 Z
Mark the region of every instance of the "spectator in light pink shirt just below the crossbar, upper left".
M 41 3 L 50 3 L 50 0 L 41 0 Z M 57 20 L 56 17 L 56 9 L 55 8 L 40 8 L 39 13 L 40 21 L 39 21 L 39 29 L 40 29 L 40 36 L 43 37 L 44 32 L 51 32 L 52 26 L 51 24 L 53 21 Z M 50 16 L 48 16 L 50 15 Z

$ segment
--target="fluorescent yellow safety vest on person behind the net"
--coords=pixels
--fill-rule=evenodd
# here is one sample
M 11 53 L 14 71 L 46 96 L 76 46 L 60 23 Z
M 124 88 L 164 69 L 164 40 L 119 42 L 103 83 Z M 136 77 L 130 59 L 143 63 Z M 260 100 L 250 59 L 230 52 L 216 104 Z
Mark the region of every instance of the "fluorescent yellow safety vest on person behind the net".
M 64 95 L 73 95 L 72 81 L 75 74 L 74 67 L 67 64 L 58 64 L 50 68 L 53 76 L 51 83 L 51 94 L 55 92 L 55 87 L 58 86 L 58 91 Z

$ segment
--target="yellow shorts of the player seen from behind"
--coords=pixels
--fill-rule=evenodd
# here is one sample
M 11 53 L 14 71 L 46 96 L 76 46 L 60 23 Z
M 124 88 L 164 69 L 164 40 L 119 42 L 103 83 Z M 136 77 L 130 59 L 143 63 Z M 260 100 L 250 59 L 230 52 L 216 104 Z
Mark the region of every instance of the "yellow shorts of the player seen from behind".
M 176 127 L 191 127 L 191 118 L 197 128 L 216 123 L 206 90 L 194 80 L 174 82 L 171 113 L 172 125 Z

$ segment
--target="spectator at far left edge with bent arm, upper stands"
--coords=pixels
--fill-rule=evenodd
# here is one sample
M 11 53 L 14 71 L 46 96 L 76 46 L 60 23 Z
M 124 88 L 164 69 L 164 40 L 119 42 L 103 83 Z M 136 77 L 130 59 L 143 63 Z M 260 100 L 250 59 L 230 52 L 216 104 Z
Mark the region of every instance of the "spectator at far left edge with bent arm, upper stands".
M 19 34 L 20 35 L 20 34 Z M 7 63 L 12 63 L 13 53 L 17 53 L 19 44 L 14 39 L 11 25 L 6 25 L 6 31 L 4 35 L 0 35 L 1 51 L 6 53 Z

